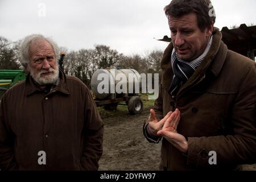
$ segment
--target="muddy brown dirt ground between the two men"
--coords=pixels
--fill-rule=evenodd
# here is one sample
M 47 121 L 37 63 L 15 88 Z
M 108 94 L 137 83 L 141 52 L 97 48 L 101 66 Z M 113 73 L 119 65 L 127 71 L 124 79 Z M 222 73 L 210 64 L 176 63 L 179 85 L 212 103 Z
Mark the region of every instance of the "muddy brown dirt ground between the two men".
M 142 133 L 144 120 L 150 108 L 142 114 L 122 113 L 104 118 L 104 153 L 100 159 L 101 171 L 154 171 L 158 170 L 160 143 L 147 142 Z M 243 166 L 256 171 L 256 164 Z

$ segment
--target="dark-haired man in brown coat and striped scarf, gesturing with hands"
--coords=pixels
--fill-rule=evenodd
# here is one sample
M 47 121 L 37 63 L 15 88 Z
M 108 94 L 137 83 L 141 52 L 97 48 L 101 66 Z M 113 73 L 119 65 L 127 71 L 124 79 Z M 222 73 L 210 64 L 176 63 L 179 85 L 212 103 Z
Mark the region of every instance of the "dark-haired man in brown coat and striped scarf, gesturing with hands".
M 256 163 L 256 65 L 230 51 L 208 0 L 165 7 L 172 42 L 161 62 L 159 97 L 143 127 L 162 138 L 160 169 L 240 169 Z

